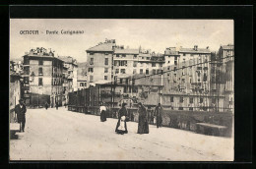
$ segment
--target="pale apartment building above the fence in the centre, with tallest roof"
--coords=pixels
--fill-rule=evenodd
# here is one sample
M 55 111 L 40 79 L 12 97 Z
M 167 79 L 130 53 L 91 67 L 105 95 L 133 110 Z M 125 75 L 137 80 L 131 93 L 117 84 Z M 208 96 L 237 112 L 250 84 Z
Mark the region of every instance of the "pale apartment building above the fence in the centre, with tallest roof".
M 122 81 L 133 75 L 158 73 L 164 64 L 162 54 L 150 50 L 117 46 L 115 40 L 105 40 L 87 50 L 88 86 L 90 83 Z

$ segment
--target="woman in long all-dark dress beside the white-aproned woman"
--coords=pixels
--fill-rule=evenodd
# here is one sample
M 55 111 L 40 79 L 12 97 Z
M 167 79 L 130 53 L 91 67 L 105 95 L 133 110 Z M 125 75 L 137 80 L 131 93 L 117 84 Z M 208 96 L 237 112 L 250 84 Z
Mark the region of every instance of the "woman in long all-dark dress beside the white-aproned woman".
M 146 108 L 142 105 L 142 103 L 139 103 L 139 123 L 138 123 L 138 134 L 149 134 L 149 122 L 148 122 L 148 113 Z

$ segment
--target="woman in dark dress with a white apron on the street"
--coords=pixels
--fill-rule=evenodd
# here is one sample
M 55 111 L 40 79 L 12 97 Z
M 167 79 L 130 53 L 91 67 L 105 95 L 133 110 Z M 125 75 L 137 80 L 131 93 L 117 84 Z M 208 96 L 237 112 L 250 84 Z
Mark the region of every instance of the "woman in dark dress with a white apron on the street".
M 127 115 L 127 109 L 126 109 L 126 103 L 122 104 L 122 107 L 120 108 L 120 110 L 118 111 L 118 122 L 116 124 L 116 128 L 115 128 L 115 132 L 117 134 L 127 134 L 127 125 L 126 125 L 126 121 L 128 119 Z

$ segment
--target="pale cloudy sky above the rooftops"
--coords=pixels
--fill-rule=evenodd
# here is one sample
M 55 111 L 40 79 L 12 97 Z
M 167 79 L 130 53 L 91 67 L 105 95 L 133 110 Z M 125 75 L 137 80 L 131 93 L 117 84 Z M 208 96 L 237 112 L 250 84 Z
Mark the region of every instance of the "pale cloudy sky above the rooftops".
M 61 34 L 64 30 L 84 30 L 84 34 Z M 38 34 L 21 34 L 21 30 L 39 30 Z M 46 34 L 58 30 L 59 34 Z M 117 45 L 163 53 L 166 47 L 210 47 L 233 44 L 232 20 L 106 20 L 106 19 L 11 19 L 10 60 L 22 60 L 35 47 L 51 48 L 55 56 L 72 56 L 86 62 L 86 50 L 115 39 Z

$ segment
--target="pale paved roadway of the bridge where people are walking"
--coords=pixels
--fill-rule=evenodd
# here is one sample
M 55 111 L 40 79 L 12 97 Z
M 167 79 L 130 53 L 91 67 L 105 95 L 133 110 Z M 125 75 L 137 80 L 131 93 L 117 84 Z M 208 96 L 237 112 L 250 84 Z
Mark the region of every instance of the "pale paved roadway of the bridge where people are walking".
M 150 125 L 138 135 L 128 122 L 127 135 L 116 135 L 117 119 L 102 123 L 98 116 L 50 108 L 28 109 L 25 133 L 11 124 L 11 160 L 232 160 L 232 139 Z M 230 153 L 232 152 L 232 153 Z

